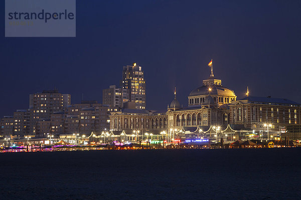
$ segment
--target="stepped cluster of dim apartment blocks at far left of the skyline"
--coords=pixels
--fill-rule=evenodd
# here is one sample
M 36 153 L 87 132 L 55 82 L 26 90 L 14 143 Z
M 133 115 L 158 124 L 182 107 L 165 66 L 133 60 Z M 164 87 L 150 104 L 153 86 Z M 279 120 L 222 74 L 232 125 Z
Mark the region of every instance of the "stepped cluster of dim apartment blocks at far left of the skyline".
M 120 94 L 121 95 L 121 94 Z M 103 106 L 95 100 L 71 104 L 70 94 L 47 90 L 30 94 L 30 108 L 1 118 L 0 133 L 13 136 L 47 136 L 109 129 L 109 113 L 119 106 Z

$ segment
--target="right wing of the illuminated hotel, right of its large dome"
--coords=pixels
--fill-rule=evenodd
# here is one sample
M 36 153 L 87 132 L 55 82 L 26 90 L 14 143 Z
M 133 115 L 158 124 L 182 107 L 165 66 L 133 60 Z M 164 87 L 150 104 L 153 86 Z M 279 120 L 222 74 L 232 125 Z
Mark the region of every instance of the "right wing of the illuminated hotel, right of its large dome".
M 246 96 L 230 104 L 230 123 L 242 124 L 257 133 L 265 133 L 266 124 L 270 124 L 270 132 L 301 139 L 300 106 L 285 98 Z

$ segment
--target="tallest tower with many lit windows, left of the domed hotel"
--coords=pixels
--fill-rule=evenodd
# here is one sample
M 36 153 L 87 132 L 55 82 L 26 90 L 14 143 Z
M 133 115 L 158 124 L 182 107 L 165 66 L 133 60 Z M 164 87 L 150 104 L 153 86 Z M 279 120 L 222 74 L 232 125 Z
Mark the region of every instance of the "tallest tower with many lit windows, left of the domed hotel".
M 123 102 L 135 102 L 136 109 L 145 109 L 145 80 L 141 66 L 136 63 L 123 66 L 122 89 Z

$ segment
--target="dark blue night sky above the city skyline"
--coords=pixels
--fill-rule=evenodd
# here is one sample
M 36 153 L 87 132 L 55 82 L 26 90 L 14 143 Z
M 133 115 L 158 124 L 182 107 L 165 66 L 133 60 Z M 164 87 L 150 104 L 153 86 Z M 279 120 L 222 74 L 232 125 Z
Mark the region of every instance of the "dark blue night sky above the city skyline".
M 1 11 L 4 16 L 4 1 Z M 72 103 L 102 102 L 122 66 L 145 72 L 147 108 L 184 106 L 210 74 L 234 89 L 301 102 L 301 2 L 293 0 L 77 0 L 75 38 L 1 34 L 0 115 L 28 108 L 29 94 L 59 88 Z M 4 18 L 3 18 L 4 22 Z

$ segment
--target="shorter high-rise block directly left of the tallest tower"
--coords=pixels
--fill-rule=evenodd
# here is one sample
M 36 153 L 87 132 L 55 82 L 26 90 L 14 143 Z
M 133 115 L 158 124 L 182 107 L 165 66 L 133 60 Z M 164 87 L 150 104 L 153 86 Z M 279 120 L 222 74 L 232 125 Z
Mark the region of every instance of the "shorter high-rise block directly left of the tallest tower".
M 110 107 L 122 107 L 122 88 L 110 85 L 109 88 L 102 90 L 102 104 Z

